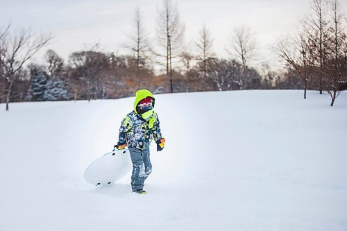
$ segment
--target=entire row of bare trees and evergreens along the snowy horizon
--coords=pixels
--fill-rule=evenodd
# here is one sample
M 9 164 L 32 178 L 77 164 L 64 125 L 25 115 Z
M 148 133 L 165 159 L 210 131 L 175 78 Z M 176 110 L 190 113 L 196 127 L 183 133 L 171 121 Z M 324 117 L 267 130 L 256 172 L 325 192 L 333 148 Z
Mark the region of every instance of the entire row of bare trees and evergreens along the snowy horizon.
M 256 35 L 250 26 L 236 26 L 229 38 L 229 58 L 217 58 L 210 30 L 203 24 L 192 53 L 184 46 L 184 26 L 178 8 L 163 0 L 158 10 L 155 40 L 144 26 L 139 8 L 125 49 L 130 55 L 104 52 L 100 44 L 75 51 L 63 60 L 56 51 L 44 63 L 28 60 L 51 42 L 52 35 L 30 30 L 13 33 L 0 28 L 0 103 L 117 99 L 137 89 L 152 92 L 198 92 L 236 89 L 307 89 L 328 91 L 332 103 L 346 81 L 346 16 L 337 0 L 312 0 L 312 14 L 297 35 L 278 40 L 275 52 L 287 69 L 271 71 L 265 63 L 255 69 Z M 155 70 L 162 67 L 161 73 Z

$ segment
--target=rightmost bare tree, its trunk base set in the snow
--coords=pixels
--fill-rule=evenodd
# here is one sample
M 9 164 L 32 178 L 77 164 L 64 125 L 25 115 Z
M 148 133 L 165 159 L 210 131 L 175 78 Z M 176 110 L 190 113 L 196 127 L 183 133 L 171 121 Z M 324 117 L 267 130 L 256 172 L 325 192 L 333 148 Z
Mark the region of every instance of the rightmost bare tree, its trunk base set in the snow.
M 346 73 L 347 40 L 342 22 L 344 14 L 339 10 L 339 1 L 331 1 L 332 25 L 329 27 L 328 55 L 326 55 L 325 69 L 328 80 L 327 90 L 331 97 L 331 106 L 339 96 L 339 81 Z

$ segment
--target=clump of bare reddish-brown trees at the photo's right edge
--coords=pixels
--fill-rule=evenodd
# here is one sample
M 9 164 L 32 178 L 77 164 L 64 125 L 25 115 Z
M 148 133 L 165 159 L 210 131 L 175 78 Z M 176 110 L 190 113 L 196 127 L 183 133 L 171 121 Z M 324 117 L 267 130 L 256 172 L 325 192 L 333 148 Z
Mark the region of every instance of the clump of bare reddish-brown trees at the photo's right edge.
M 332 106 L 346 87 L 346 22 L 338 0 L 312 0 L 296 35 L 278 41 L 276 52 L 300 76 L 305 99 L 307 89 L 327 91 Z

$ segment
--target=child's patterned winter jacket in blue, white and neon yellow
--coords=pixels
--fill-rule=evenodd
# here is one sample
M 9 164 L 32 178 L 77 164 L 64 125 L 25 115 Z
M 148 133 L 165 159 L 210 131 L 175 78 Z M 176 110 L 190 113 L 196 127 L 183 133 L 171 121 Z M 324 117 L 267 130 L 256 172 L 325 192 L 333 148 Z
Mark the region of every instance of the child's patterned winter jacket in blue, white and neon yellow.
M 133 111 L 121 121 L 119 146 L 127 144 L 128 147 L 143 150 L 149 148 L 153 138 L 155 142 L 162 139 L 157 113 L 153 112 L 153 116 L 146 121 Z

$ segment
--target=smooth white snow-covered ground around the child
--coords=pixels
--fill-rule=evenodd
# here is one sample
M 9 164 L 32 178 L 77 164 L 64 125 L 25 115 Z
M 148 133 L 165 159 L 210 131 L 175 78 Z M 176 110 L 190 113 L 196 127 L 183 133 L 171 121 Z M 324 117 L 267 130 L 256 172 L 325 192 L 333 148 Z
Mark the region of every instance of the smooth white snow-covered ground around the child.
M 0 105 L 0 230 L 347 230 L 347 92 L 164 94 L 147 195 L 86 167 L 133 98 Z

